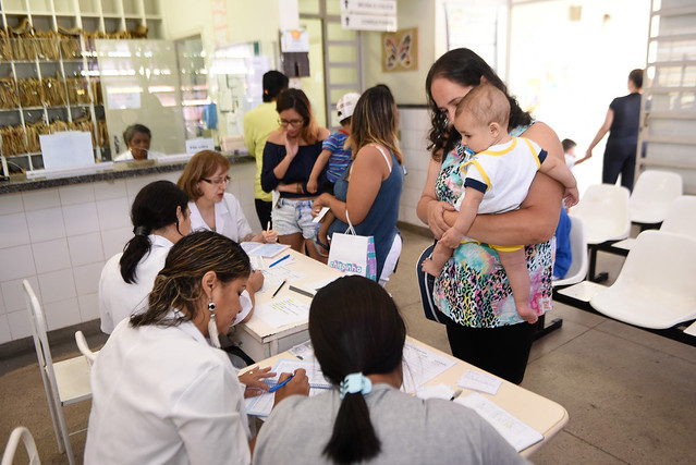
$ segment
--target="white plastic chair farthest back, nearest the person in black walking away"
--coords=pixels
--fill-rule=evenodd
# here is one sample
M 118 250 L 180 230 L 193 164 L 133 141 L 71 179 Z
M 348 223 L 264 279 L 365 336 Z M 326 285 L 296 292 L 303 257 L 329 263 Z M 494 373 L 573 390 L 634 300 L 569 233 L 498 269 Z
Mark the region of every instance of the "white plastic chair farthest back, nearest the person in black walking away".
M 682 176 L 670 171 L 640 173 L 631 194 L 631 221 L 640 224 L 662 222 L 672 201 L 682 195 Z

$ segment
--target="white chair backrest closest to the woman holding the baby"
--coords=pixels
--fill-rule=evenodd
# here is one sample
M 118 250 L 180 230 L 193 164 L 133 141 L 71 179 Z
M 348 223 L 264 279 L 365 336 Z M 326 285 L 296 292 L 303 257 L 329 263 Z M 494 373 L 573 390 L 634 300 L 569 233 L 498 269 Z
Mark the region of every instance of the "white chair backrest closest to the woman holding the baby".
M 595 184 L 573 207 L 573 216 L 583 220 L 588 244 L 625 238 L 631 232 L 628 189 L 613 184 Z

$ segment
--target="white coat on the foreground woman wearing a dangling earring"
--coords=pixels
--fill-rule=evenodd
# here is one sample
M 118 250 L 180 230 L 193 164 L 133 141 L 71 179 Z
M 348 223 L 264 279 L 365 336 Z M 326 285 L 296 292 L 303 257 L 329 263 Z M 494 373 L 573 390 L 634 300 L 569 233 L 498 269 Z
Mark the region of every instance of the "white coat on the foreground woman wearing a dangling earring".
M 85 464 L 248 464 L 243 389 L 191 322 L 121 321 L 91 367 Z

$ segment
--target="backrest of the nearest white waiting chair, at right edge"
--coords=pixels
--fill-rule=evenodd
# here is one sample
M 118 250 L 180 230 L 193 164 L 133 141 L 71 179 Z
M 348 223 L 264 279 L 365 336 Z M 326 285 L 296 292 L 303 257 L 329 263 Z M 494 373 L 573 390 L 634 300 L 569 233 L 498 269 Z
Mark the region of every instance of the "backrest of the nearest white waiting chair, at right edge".
M 672 298 L 692 296 L 696 305 L 696 238 L 650 230 L 642 232 L 613 286 L 639 289 Z

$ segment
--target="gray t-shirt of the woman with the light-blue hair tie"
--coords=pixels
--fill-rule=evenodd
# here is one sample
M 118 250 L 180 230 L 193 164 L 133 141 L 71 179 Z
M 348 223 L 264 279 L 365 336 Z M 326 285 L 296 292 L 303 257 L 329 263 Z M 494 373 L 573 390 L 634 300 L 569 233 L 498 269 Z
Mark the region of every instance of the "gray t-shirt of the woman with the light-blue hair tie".
M 443 400 L 424 401 L 388 384 L 366 397 L 381 441 L 379 464 L 525 464 L 498 432 L 473 411 Z M 261 428 L 254 464 L 329 464 L 329 441 L 341 400 L 335 390 L 292 396 L 273 409 Z

